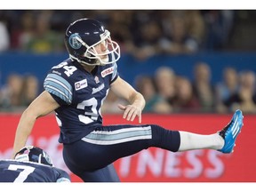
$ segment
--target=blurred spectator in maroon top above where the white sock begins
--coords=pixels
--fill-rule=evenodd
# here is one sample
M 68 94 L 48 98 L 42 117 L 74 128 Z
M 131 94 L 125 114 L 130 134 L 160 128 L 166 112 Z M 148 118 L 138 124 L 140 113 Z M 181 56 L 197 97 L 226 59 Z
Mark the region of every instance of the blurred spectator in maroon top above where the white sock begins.
M 176 77 L 176 95 L 173 100 L 174 112 L 192 113 L 200 112 L 199 100 L 194 95 L 191 82 L 187 77 Z

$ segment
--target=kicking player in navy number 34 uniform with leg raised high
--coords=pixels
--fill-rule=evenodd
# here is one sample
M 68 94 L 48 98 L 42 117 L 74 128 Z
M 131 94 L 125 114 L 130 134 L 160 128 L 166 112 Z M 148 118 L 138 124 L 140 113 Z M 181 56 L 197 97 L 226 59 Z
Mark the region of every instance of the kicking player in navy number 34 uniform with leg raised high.
M 120 181 L 113 163 L 142 149 L 157 147 L 172 152 L 199 148 L 231 153 L 243 126 L 237 110 L 220 132 L 201 135 L 141 124 L 145 100 L 118 75 L 119 45 L 98 20 L 81 19 L 71 23 L 65 33 L 69 58 L 53 66 L 44 80 L 44 92 L 20 117 L 13 153 L 23 147 L 36 119 L 55 111 L 60 126 L 63 158 L 71 172 L 84 181 Z M 119 105 L 128 122 L 139 124 L 102 125 L 101 105 L 108 91 L 128 101 Z

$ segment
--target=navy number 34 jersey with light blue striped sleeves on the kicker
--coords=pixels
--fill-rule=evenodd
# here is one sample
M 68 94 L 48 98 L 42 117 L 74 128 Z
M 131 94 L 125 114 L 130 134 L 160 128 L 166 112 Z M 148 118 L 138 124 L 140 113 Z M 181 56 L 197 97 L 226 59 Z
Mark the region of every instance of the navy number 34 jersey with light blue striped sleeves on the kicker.
M 55 110 L 60 143 L 80 140 L 102 124 L 100 108 L 117 76 L 116 63 L 96 66 L 89 73 L 68 59 L 50 70 L 44 89 L 60 104 Z

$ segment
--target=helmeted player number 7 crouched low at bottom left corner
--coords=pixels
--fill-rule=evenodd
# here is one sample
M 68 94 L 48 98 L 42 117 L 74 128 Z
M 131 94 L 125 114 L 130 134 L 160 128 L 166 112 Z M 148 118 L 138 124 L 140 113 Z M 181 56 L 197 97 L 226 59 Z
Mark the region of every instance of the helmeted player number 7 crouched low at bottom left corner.
M 0 182 L 70 182 L 68 172 L 54 167 L 42 148 L 21 148 L 14 158 L 0 160 Z

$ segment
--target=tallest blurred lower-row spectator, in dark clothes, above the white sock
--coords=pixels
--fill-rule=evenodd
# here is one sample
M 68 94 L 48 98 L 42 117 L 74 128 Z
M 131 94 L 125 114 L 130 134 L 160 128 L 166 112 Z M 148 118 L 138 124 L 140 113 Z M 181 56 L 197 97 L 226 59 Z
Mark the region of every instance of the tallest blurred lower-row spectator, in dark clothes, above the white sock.
M 212 112 L 215 106 L 215 88 L 211 83 L 212 71 L 205 62 L 197 62 L 194 68 L 193 92 L 199 100 L 202 112 Z

